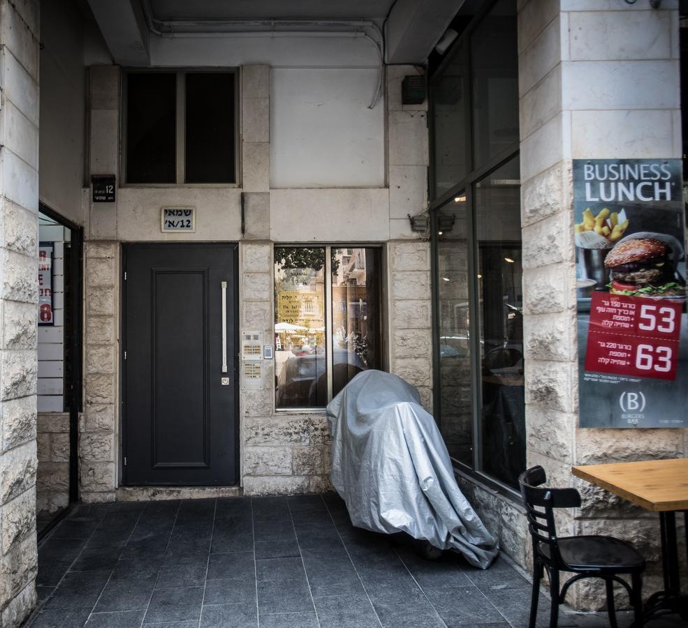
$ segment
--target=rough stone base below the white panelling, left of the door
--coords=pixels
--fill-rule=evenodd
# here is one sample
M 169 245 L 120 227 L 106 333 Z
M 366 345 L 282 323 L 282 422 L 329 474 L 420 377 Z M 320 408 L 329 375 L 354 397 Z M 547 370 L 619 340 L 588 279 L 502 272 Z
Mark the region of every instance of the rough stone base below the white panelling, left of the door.
M 50 514 L 69 503 L 69 414 L 38 414 L 36 511 Z

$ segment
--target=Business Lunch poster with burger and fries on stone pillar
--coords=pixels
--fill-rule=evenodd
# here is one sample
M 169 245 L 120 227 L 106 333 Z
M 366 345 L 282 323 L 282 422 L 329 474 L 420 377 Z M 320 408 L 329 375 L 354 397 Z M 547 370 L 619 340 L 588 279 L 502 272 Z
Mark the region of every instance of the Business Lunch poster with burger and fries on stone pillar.
M 681 172 L 573 160 L 581 428 L 688 427 Z

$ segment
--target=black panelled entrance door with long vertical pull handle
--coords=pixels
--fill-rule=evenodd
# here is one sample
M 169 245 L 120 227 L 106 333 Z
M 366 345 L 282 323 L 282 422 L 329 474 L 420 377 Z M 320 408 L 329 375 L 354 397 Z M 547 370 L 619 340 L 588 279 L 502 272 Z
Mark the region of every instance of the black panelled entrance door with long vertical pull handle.
M 122 285 L 124 484 L 236 484 L 236 245 L 125 245 Z

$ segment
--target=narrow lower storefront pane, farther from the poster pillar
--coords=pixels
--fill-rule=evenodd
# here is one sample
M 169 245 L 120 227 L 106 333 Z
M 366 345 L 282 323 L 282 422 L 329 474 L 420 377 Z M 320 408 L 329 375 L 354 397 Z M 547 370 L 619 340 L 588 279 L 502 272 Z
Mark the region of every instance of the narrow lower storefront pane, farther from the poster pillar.
M 441 431 L 449 454 L 472 466 L 469 251 L 464 194 L 439 210 L 437 230 Z

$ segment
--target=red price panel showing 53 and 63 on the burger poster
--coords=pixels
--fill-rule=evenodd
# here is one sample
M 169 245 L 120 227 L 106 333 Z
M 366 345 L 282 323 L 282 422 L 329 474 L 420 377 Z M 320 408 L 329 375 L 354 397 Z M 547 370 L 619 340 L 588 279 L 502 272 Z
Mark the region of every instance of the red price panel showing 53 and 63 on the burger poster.
M 683 304 L 594 292 L 585 370 L 675 380 Z

